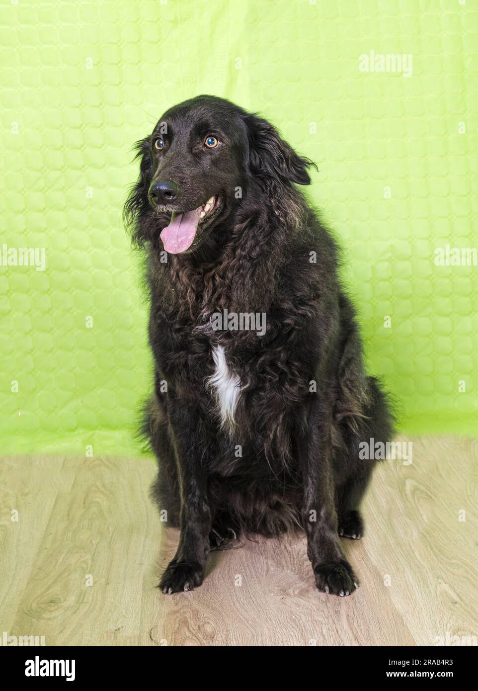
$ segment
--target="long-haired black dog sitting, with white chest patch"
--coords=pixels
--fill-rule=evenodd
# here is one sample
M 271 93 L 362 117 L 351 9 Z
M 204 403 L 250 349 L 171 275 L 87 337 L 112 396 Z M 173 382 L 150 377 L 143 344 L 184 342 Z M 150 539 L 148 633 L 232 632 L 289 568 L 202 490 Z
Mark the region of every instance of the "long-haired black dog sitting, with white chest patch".
M 137 150 L 125 213 L 148 255 L 144 433 L 153 496 L 180 527 L 160 587 L 200 585 L 211 549 L 240 533 L 302 528 L 318 589 L 348 595 L 358 580 L 339 536 L 363 534 L 376 462 L 359 443 L 392 439 L 393 425 L 336 243 L 295 186 L 312 161 L 213 96 L 171 108 Z

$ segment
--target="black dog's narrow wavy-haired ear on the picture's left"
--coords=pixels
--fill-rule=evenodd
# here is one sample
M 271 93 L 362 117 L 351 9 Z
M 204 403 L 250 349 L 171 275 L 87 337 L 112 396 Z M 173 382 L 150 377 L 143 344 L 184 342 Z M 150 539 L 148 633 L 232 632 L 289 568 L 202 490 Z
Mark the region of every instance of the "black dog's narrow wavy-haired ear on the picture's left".
M 136 151 L 134 160 L 141 159 L 140 176 L 128 195 L 124 205 L 123 218 L 126 228 L 133 229 L 133 244 L 142 246 L 146 238 L 142 237 L 141 219 L 145 212 L 149 211 L 148 190 L 153 178 L 149 138 L 136 142 L 133 149 Z

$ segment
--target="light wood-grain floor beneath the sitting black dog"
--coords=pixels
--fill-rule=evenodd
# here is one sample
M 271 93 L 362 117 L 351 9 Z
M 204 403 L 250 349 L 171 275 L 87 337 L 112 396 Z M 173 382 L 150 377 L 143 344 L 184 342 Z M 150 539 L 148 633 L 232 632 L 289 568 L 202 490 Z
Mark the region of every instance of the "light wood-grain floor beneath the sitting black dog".
M 3 458 L 0 629 L 46 645 L 478 636 L 477 460 L 478 442 L 448 437 L 413 439 L 410 465 L 383 462 L 364 504 L 365 538 L 343 541 L 362 585 L 338 598 L 314 588 L 300 537 L 213 553 L 200 589 L 163 596 L 155 585 L 178 533 L 148 498 L 151 460 Z

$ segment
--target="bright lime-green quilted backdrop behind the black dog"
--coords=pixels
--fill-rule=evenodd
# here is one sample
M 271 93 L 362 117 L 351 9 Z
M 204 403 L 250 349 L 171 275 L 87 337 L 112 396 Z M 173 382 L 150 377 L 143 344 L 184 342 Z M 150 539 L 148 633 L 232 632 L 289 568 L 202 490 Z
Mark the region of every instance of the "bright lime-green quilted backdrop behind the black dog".
M 200 93 L 317 162 L 307 193 L 402 430 L 476 433 L 478 267 L 434 262 L 478 243 L 476 0 L 12 0 L 0 16 L 0 249 L 46 252 L 43 271 L 0 265 L 2 453 L 138 451 L 131 145 Z M 370 51 L 411 54 L 412 74 L 361 70 Z

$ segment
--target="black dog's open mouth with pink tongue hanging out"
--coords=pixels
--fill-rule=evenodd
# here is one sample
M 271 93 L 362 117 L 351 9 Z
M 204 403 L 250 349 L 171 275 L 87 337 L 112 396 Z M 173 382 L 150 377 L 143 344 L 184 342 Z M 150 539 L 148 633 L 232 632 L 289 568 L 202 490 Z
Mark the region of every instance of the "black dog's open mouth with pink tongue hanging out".
M 210 225 L 221 207 L 222 200 L 216 195 L 193 211 L 173 211 L 169 225 L 161 231 L 160 236 L 166 252 L 186 252 L 193 244 L 198 230 L 203 231 Z

